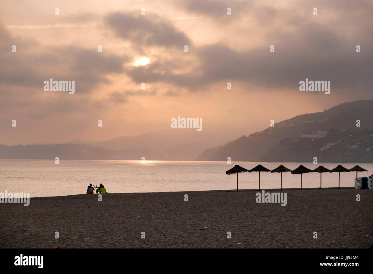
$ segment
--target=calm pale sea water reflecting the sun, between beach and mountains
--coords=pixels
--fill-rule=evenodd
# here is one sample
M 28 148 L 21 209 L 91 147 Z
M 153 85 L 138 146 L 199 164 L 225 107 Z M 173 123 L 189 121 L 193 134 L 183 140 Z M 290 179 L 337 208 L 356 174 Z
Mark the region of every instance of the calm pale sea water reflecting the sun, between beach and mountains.
M 0 192 L 29 192 L 31 197 L 84 194 L 87 186 L 102 183 L 109 193 L 164 192 L 191 190 L 236 189 L 236 174 L 225 171 L 235 164 L 252 169 L 261 164 L 275 169 L 283 164 L 295 169 L 303 164 L 309 169 L 323 165 L 333 169 L 338 163 L 256 163 L 256 162 L 203 162 L 203 161 L 100 161 L 100 160 L 0 160 Z M 356 164 L 342 164 L 350 169 Z M 373 164 L 359 163 L 373 174 Z M 354 186 L 356 172 L 341 173 L 341 187 Z M 257 189 L 258 172 L 238 174 L 239 189 Z M 322 174 L 323 187 L 338 186 L 338 172 Z M 282 173 L 283 188 L 300 188 L 300 175 Z M 261 172 L 263 189 L 280 188 L 280 173 Z M 320 187 L 319 173 L 303 174 L 304 188 Z

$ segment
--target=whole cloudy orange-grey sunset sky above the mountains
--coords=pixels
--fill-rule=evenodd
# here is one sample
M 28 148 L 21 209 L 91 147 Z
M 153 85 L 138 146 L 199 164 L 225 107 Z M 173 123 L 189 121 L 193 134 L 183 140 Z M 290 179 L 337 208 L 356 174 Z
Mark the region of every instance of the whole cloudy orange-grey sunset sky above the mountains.
M 228 142 L 373 99 L 373 1 L 0 5 L 0 144 L 103 141 L 169 130 L 177 116 Z M 75 93 L 45 91 L 50 78 L 75 81 Z M 330 81 L 330 94 L 300 91 L 306 78 Z

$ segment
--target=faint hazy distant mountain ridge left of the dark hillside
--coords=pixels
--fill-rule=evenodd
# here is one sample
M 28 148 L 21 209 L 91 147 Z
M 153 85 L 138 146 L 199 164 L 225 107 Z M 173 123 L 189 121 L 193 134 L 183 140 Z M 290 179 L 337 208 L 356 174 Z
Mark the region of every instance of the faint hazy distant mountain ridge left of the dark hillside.
M 210 137 L 211 133 L 170 129 L 99 142 L 0 145 L 0 159 L 141 160 L 145 157 L 145 160 L 193 161 L 206 148 L 214 147 L 208 145 Z M 222 139 L 219 142 L 222 144 Z

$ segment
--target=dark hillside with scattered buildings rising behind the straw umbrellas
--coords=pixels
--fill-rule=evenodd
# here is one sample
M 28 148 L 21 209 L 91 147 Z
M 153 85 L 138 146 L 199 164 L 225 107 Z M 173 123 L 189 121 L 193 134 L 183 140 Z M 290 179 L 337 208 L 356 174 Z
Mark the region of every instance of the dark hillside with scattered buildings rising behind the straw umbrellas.
M 354 101 L 275 123 L 222 147 L 206 149 L 196 160 L 226 161 L 231 157 L 232 161 L 312 162 L 318 157 L 320 162 L 372 163 L 372 129 L 373 100 Z M 327 135 L 322 138 L 304 137 L 323 131 Z

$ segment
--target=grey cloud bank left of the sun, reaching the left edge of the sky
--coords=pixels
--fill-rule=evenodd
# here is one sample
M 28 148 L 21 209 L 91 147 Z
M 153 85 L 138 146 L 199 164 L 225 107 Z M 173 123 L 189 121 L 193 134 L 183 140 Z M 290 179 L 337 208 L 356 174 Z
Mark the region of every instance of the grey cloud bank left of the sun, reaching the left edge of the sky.
M 109 73 L 123 72 L 126 56 L 98 53 L 97 48 L 74 46 L 33 48 L 22 40 L 11 38 L 0 27 L 0 82 L 6 86 L 38 88 L 44 92 L 44 81 L 75 81 L 75 93 L 91 91 L 109 80 Z M 16 45 L 16 53 L 12 52 Z

